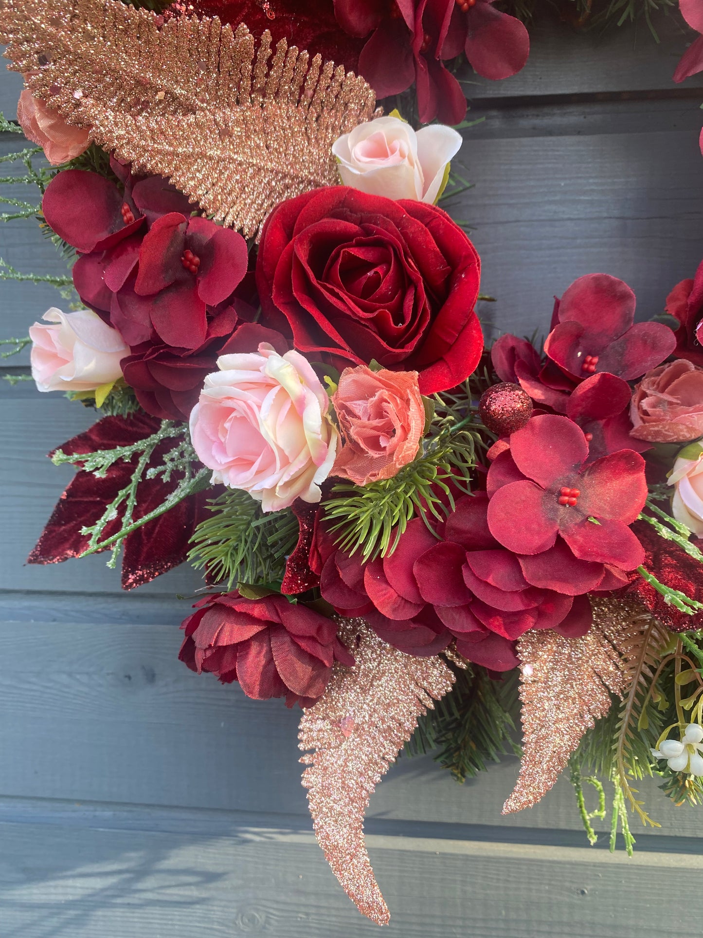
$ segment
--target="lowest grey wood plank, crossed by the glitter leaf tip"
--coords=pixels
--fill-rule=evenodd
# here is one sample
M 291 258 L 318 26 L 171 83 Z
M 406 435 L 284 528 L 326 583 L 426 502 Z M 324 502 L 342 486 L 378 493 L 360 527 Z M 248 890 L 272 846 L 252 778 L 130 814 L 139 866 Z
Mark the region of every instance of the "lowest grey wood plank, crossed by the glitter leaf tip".
M 22 938 L 288 938 L 378 934 L 311 834 L 0 824 L 0 907 Z M 703 857 L 371 836 L 369 855 L 403 938 L 681 938 L 700 934 Z M 668 930 L 667 930 L 668 929 Z

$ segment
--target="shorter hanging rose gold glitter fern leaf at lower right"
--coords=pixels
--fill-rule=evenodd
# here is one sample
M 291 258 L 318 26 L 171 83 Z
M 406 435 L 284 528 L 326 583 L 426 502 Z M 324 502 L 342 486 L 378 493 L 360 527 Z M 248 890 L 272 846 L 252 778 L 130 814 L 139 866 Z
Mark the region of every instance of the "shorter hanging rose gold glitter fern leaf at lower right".
M 526 632 L 517 643 L 521 662 L 523 755 L 509 814 L 545 795 L 596 719 L 605 717 L 610 692 L 623 695 L 637 639 L 651 615 L 629 599 L 592 597 L 593 625 L 582 638 L 551 629 Z

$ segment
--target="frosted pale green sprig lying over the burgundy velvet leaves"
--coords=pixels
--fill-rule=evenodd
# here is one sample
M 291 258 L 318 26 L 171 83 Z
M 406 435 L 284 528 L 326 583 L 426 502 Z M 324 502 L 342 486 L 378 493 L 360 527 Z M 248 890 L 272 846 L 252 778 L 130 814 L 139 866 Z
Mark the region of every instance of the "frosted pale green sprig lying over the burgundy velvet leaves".
M 164 440 L 172 440 L 172 448 L 164 453 L 160 463 L 156 466 L 150 465 L 157 446 Z M 115 462 L 132 462 L 135 458 L 137 463 L 127 485 L 120 489 L 112 501 L 106 505 L 95 524 L 82 527 L 81 533 L 88 537 L 88 546 L 79 556 L 84 557 L 89 553 L 112 548 L 108 567 L 115 567 L 120 548 L 132 531 L 136 531 L 142 527 L 142 524 L 151 522 L 170 511 L 188 495 L 202 492 L 209 486 L 210 471 L 197 461 L 195 451 L 190 445 L 186 424 L 175 423 L 172 420 L 163 420 L 155 433 L 128 446 L 97 449 L 92 453 L 64 453 L 61 449 L 57 449 L 52 454 L 54 465 L 78 464 L 83 472 L 93 473 L 98 478 L 104 478 Z M 137 489 L 142 480 L 160 477 L 164 483 L 168 483 L 173 476 L 181 477 L 173 491 L 166 495 L 157 508 L 135 520 Z M 103 537 L 107 525 L 120 513 L 119 531 L 111 537 Z

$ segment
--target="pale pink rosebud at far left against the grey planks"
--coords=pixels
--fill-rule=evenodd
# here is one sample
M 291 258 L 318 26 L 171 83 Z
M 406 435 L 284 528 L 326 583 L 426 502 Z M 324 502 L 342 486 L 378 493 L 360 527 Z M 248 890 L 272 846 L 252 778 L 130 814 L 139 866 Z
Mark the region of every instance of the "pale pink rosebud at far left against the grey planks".
M 40 391 L 93 391 L 122 377 L 129 348 L 93 310 L 52 307 L 29 328 L 32 377 Z

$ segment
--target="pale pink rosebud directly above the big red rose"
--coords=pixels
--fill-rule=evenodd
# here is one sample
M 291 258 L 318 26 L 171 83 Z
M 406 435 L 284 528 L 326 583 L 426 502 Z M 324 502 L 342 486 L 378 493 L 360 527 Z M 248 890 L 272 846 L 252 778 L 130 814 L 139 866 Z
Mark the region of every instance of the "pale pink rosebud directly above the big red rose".
M 399 117 L 377 117 L 339 137 L 332 152 L 345 186 L 435 204 L 461 143 L 456 130 L 443 124 L 415 132 Z

